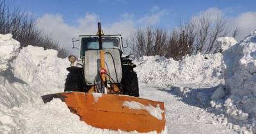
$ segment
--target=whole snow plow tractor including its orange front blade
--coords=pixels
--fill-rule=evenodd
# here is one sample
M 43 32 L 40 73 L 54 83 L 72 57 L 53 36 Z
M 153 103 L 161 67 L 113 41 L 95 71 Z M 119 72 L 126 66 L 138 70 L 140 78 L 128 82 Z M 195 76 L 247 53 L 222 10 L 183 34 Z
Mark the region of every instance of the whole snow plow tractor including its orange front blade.
M 60 98 L 81 121 L 107 130 L 164 133 L 164 103 L 139 98 L 134 55 L 124 56 L 121 35 L 73 38 L 80 42 L 80 59 L 69 56 L 63 93 L 42 96 L 44 103 Z

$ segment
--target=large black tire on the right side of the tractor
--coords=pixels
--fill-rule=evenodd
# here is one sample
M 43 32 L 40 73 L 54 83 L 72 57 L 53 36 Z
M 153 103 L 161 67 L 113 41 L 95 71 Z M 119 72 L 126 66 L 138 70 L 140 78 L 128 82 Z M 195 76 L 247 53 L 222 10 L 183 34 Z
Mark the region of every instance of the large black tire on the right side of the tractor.
M 122 76 L 123 94 L 138 97 L 139 84 L 138 77 L 135 71 L 127 71 Z

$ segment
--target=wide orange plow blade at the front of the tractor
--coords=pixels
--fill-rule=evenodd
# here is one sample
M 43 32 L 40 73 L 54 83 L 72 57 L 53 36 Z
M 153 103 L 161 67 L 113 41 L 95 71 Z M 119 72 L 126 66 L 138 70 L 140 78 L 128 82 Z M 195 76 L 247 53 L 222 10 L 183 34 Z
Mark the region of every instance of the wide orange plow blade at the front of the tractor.
M 164 103 L 132 96 L 95 93 L 58 93 L 42 96 L 44 103 L 53 98 L 64 101 L 71 112 L 79 115 L 81 121 L 96 128 L 122 131 L 161 133 L 165 126 Z M 130 103 L 141 107 L 132 107 Z M 146 107 L 146 108 L 145 108 Z M 149 108 L 148 108 L 149 107 Z M 148 109 L 153 109 L 152 111 Z M 158 116 L 156 116 L 156 111 Z M 151 114 L 150 114 L 151 113 Z

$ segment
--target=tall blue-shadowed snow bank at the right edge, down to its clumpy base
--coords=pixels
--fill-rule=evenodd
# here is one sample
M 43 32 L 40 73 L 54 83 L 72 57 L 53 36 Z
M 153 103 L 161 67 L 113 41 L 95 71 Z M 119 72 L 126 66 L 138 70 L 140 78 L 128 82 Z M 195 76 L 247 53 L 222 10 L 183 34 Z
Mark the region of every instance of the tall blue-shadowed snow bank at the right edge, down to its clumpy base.
M 244 120 L 248 117 L 248 115 L 243 114 L 243 111 L 250 114 L 251 118 L 255 118 L 256 31 L 253 31 L 240 43 L 225 50 L 223 56 L 225 85 L 231 94 L 228 100 L 233 101 L 232 105 L 225 106 L 233 107 L 234 109 L 231 113 L 227 112 L 239 120 Z M 242 117 L 240 117 L 241 115 Z

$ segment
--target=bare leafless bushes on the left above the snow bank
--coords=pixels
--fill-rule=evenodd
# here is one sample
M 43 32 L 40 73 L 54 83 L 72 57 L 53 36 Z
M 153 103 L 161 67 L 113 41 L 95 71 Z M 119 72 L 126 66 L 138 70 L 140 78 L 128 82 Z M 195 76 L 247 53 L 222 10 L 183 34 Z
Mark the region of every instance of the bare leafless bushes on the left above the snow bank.
M 35 26 L 35 19 L 20 8 L 11 8 L 6 1 L 0 0 L 0 33 L 12 33 L 15 40 L 20 41 L 20 47 L 35 45 L 58 50 L 59 57 L 67 57 L 68 51 L 60 47 L 50 36 L 45 36 Z

